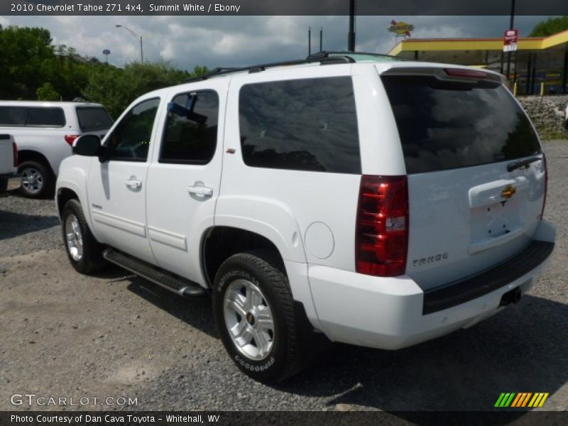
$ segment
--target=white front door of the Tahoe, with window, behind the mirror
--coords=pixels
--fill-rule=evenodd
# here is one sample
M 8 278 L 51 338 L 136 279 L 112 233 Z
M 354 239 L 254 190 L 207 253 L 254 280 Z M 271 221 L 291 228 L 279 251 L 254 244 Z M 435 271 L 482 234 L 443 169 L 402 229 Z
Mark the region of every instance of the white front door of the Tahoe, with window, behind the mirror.
M 97 239 L 150 263 L 146 178 L 159 105 L 159 98 L 146 99 L 122 117 L 104 143 L 109 160 L 92 161 L 87 185 Z

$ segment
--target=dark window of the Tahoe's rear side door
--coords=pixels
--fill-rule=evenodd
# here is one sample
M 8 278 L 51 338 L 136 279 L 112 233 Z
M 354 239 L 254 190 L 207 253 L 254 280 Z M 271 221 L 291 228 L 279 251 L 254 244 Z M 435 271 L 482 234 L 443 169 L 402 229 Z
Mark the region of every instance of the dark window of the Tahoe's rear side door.
M 203 90 L 178 94 L 168 104 L 160 163 L 207 164 L 217 147 L 219 97 Z

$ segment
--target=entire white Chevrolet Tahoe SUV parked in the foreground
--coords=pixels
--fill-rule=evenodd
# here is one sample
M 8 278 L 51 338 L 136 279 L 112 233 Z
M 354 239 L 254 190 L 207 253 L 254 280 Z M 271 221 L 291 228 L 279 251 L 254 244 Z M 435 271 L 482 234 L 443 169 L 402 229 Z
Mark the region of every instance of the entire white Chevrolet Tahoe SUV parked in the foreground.
M 222 71 L 140 97 L 75 153 L 56 195 L 72 266 L 211 294 L 259 381 L 317 337 L 399 349 L 469 327 L 555 244 L 537 133 L 490 71 L 348 54 Z

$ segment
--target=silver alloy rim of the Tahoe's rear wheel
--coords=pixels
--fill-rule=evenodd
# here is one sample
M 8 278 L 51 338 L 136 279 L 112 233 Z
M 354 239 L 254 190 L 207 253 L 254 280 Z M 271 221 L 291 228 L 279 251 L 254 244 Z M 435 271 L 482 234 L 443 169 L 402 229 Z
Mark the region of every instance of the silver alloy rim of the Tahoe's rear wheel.
M 241 354 L 259 361 L 274 344 L 271 307 L 261 289 L 249 280 L 234 280 L 224 295 L 224 317 L 229 336 Z

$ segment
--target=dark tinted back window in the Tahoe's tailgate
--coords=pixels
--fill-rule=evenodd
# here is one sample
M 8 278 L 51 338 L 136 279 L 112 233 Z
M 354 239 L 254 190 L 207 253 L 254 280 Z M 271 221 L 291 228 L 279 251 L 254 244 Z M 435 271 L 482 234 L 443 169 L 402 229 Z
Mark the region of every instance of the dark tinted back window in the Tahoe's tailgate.
M 501 84 L 382 77 L 407 173 L 513 160 L 540 153 L 535 130 Z

